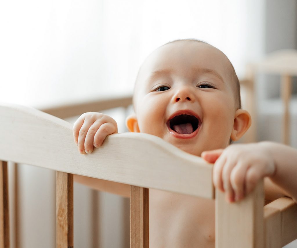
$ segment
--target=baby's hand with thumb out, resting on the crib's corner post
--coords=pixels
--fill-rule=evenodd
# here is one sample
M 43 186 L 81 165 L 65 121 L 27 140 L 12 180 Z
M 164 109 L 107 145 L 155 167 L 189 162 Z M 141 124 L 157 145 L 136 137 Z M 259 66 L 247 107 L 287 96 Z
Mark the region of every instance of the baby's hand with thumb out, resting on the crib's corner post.
M 226 193 L 229 202 L 243 199 L 261 178 L 275 173 L 274 160 L 264 143 L 234 144 L 203 152 L 201 157 L 214 163 L 214 186 Z

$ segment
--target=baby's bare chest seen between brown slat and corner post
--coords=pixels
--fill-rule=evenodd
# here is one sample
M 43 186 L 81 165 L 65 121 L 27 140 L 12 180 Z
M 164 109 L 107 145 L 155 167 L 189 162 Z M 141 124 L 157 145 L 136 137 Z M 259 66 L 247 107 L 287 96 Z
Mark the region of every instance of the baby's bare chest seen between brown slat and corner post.
M 151 247 L 214 247 L 214 201 L 150 190 Z

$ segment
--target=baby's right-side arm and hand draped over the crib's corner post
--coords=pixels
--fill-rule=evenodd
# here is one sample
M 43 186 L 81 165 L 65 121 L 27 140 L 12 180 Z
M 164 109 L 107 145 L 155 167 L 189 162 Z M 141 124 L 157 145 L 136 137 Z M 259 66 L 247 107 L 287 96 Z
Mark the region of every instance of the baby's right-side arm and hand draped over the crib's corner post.
M 296 149 L 273 142 L 235 144 L 203 152 L 202 157 L 214 163 L 214 185 L 230 202 L 244 198 L 263 177 L 268 177 L 266 196 L 286 195 L 297 202 Z

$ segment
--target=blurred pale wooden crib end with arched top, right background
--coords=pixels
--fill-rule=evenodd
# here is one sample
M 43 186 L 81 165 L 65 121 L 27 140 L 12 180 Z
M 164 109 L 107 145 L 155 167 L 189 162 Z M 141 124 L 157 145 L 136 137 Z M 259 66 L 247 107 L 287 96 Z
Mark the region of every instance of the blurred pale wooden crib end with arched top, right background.
M 257 74 L 280 75 L 280 92 L 284 112 L 282 118 L 282 142 L 290 145 L 290 98 L 292 88 L 292 77 L 297 76 L 297 50 L 284 49 L 268 54 L 262 60 L 252 63 L 247 68 L 247 78 L 242 80 L 247 88 L 247 109 L 251 112 L 252 122 L 256 123 L 256 98 L 255 98 L 255 76 Z M 249 130 L 249 142 L 257 141 L 257 127 L 252 125 Z

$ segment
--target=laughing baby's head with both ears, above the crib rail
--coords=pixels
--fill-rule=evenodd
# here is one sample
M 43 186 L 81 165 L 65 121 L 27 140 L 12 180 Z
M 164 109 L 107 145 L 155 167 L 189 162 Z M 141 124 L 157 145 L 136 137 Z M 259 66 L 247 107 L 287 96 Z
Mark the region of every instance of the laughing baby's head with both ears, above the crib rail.
M 176 40 L 152 52 L 139 69 L 131 132 L 156 135 L 194 155 L 225 148 L 250 126 L 228 58 L 198 40 Z

